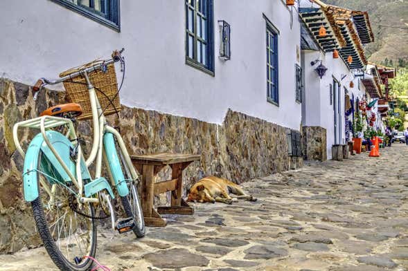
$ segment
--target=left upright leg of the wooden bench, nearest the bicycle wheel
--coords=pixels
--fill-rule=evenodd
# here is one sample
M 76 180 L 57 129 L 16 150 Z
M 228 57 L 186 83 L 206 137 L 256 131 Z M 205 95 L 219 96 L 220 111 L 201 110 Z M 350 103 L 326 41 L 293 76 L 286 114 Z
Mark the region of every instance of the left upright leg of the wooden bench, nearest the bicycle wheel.
M 152 217 L 153 200 L 154 200 L 154 166 L 143 165 L 143 193 L 142 193 L 142 209 L 143 215 Z

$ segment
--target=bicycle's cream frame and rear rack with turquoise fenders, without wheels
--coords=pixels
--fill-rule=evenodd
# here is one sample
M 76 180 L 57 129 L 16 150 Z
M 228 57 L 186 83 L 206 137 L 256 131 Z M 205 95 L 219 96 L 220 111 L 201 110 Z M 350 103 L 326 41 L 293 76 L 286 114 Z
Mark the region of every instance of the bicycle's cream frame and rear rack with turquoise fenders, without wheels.
M 87 71 L 82 71 L 82 76 L 85 77 L 87 80 L 87 87 L 89 90 L 89 99 L 91 102 L 91 109 L 92 109 L 92 122 L 93 122 L 93 130 L 94 130 L 94 140 L 91 149 L 91 153 L 87 158 L 86 162 L 84 162 L 84 156 L 82 154 L 82 149 L 78 142 L 78 138 L 76 136 L 76 131 L 73 127 L 73 123 L 71 120 L 66 118 L 59 118 L 59 117 L 51 117 L 51 116 L 42 116 L 39 118 L 34 118 L 32 120 L 26 120 L 23 122 L 19 122 L 15 124 L 13 128 L 13 138 L 15 142 L 15 146 L 17 151 L 25 157 L 24 161 L 24 197 L 27 201 L 35 200 L 38 197 L 38 190 L 37 185 L 30 185 L 31 183 L 36 184 L 37 182 L 37 159 L 38 155 L 35 154 L 39 153 L 39 151 L 43 151 L 46 156 L 50 156 L 52 158 L 55 157 L 55 160 L 51 160 L 53 166 L 57 169 L 60 176 L 64 181 L 65 185 L 66 182 L 71 182 L 75 185 L 78 189 L 78 194 L 76 194 L 79 203 L 99 203 L 99 198 L 94 197 L 99 191 L 103 189 L 107 189 L 110 196 L 114 198 L 114 194 L 112 193 L 112 189 L 107 183 L 107 180 L 101 177 L 102 171 L 102 162 L 103 158 L 105 157 L 105 162 L 107 165 L 111 165 L 112 169 L 108 168 L 109 177 L 112 180 L 112 184 L 116 189 L 118 189 L 118 194 L 120 196 L 127 196 L 129 193 L 126 185 L 126 180 L 123 177 L 122 169 L 120 164 L 118 164 L 118 158 L 116 154 L 116 148 L 114 144 L 114 138 L 116 138 L 116 142 L 118 146 L 121 148 L 123 153 L 123 157 L 125 158 L 125 162 L 130 169 L 130 174 L 133 180 L 137 179 L 136 171 L 132 165 L 130 160 L 130 156 L 127 153 L 127 149 L 125 147 L 125 143 L 121 138 L 121 135 L 114 129 L 113 127 L 109 127 L 107 125 L 105 116 L 103 115 L 103 111 L 100 108 L 100 104 L 98 101 L 98 97 L 96 96 L 96 91 L 94 86 L 92 86 L 91 82 L 89 82 L 89 77 Z M 62 80 L 62 79 L 61 79 Z M 55 131 L 49 131 L 51 128 L 65 126 L 68 128 L 68 131 L 64 136 L 62 134 L 57 133 Z M 19 144 L 18 138 L 18 129 L 20 127 L 28 127 L 34 129 L 40 129 L 41 133 L 37 135 L 30 147 L 27 149 L 27 155 L 24 153 L 21 145 Z M 78 156 L 76 158 L 75 165 L 71 159 L 66 157 L 61 157 L 60 153 L 66 153 L 67 146 L 69 147 L 71 142 L 76 142 L 75 147 L 78 148 Z M 34 144 L 33 144 L 34 142 Z M 60 143 L 60 144 L 58 144 Z M 72 145 L 72 144 L 71 144 Z M 33 147 L 32 147 L 33 146 Z M 105 146 L 105 149 L 104 149 Z M 70 149 L 69 149 L 70 151 Z M 52 155 L 51 155 L 52 153 Z M 26 162 L 27 160 L 27 162 Z M 96 169 L 94 173 L 94 178 L 91 178 L 88 167 L 93 162 L 96 162 Z M 28 167 L 26 168 L 26 164 Z M 116 165 L 118 164 L 118 165 Z M 31 170 L 30 170 L 31 165 Z M 118 172 L 120 170 L 120 172 Z M 74 174 L 74 172 L 76 174 Z M 40 172 L 40 174 L 44 174 Z M 48 178 L 49 176 L 47 176 Z M 51 178 L 51 177 L 50 177 Z M 85 179 L 91 179 L 92 185 L 84 185 Z M 121 180 L 120 180 L 121 178 Z M 40 179 L 41 181 L 41 179 Z M 53 198 L 53 194 L 55 193 L 55 183 L 46 183 L 44 180 L 41 181 L 42 186 L 47 194 L 49 194 L 50 198 Z M 55 182 L 61 183 L 61 180 L 55 180 Z

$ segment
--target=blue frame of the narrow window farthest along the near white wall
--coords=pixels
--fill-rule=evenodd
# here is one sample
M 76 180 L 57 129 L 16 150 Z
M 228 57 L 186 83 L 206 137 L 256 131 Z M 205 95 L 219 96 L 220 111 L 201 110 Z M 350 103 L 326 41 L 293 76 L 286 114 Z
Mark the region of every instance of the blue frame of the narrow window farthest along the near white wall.
M 272 67 L 272 65 L 268 62 L 268 55 L 269 55 L 269 46 L 268 46 L 268 41 L 266 45 L 266 50 L 267 50 L 267 59 L 266 59 L 266 68 L 267 68 L 267 75 L 266 75 L 266 83 L 267 83 L 267 102 L 270 102 L 276 106 L 279 106 L 279 41 L 278 41 L 278 37 L 279 37 L 279 30 L 278 28 L 276 28 L 274 26 L 274 24 L 272 24 L 271 21 L 269 21 L 269 19 L 267 19 L 267 17 L 265 15 L 263 15 L 265 21 L 266 21 L 266 29 L 265 29 L 265 35 L 266 38 L 269 39 L 269 33 L 271 33 L 272 35 L 274 35 L 274 37 L 276 37 L 274 39 L 274 44 L 273 46 L 275 46 L 275 50 L 273 50 L 273 53 L 276 55 L 276 57 L 274 57 L 274 66 Z M 274 82 L 272 82 L 271 80 L 268 79 L 268 74 L 269 74 L 269 66 L 271 66 L 274 69 Z M 275 86 L 275 98 L 269 96 L 269 84 L 274 84 Z M 272 92 L 271 92 L 272 94 Z

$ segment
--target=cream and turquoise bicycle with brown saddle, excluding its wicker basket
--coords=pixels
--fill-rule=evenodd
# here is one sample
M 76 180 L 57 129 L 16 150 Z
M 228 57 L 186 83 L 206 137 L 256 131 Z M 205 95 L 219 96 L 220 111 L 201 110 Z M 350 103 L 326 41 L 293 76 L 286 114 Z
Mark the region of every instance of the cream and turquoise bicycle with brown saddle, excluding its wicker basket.
M 24 157 L 24 198 L 31 203 L 39 236 L 60 270 L 92 268 L 98 219 L 110 217 L 112 229 L 119 233 L 133 231 L 137 237 L 145 234 L 136 188 L 139 178 L 120 133 L 107 125 L 96 88 L 89 79 L 92 73 L 105 73 L 109 65 L 114 68 L 115 62 L 124 66 L 122 52 L 116 50 L 112 58 L 78 68 L 58 80 L 42 78 L 33 87 L 37 100 L 39 91 L 46 85 L 85 78 L 94 126 L 94 144 L 86 160 L 73 127 L 73 120 L 82 113 L 79 104 L 53 106 L 39 118 L 18 122 L 13 129 L 15 145 Z M 19 143 L 21 127 L 40 130 L 26 151 Z M 101 176 L 103 160 L 109 178 Z M 95 164 L 94 178 L 89 172 L 92 164 Z M 115 194 L 125 218 L 116 218 Z

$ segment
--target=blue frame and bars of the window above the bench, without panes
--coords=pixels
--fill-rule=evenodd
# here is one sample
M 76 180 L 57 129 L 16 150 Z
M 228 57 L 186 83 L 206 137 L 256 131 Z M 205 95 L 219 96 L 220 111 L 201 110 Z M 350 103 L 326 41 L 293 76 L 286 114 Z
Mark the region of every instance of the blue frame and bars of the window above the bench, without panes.
M 195 0 L 193 0 L 195 1 Z M 199 71 L 203 71 L 204 73 L 207 73 L 211 76 L 215 76 L 215 52 L 214 52 L 214 0 L 206 0 L 207 3 L 207 11 L 208 15 L 206 18 L 207 25 L 206 25 L 206 37 L 207 37 L 207 50 L 208 50 L 208 55 L 206 56 L 207 61 L 209 64 L 205 66 L 204 64 L 200 63 L 197 61 L 197 40 L 202 39 L 199 37 L 199 34 L 197 33 L 197 2 L 195 1 L 195 6 L 194 6 L 194 32 L 191 32 L 188 30 L 188 3 L 187 0 L 184 0 L 184 12 L 185 12 L 185 17 L 186 20 L 184 22 L 184 50 L 185 50 L 185 58 L 186 58 L 186 64 L 188 66 L 192 66 L 193 68 L 197 68 Z M 199 12 L 201 13 L 201 12 Z M 194 35 L 194 58 L 191 58 L 188 56 L 188 35 Z

